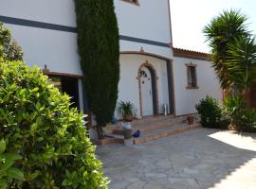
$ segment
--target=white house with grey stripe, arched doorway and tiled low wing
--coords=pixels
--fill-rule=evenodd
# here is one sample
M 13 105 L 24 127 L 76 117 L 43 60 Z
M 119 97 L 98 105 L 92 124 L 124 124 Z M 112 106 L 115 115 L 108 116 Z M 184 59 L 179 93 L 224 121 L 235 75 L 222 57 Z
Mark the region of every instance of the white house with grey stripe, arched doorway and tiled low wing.
M 119 100 L 136 105 L 137 117 L 195 112 L 206 95 L 221 98 L 208 55 L 174 48 L 169 0 L 115 0 L 119 21 Z M 171 5 L 172 6 L 172 5 Z M 23 47 L 24 60 L 53 78 L 86 109 L 71 0 L 0 0 L 0 22 Z

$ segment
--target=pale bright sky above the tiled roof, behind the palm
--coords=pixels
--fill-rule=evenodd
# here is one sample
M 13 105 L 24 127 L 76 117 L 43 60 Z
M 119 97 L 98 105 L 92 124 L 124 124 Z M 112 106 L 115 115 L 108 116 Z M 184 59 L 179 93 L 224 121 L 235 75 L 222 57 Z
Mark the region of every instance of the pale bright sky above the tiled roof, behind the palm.
M 241 9 L 249 29 L 256 34 L 255 0 L 171 0 L 174 47 L 210 52 L 202 33 L 204 26 L 223 9 Z

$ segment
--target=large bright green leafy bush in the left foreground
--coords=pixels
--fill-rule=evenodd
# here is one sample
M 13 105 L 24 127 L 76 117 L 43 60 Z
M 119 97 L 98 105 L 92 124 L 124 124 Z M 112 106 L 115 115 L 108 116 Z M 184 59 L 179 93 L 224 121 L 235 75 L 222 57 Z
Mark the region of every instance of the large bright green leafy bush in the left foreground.
M 8 188 L 107 187 L 82 113 L 70 104 L 38 68 L 0 60 L 0 140 L 22 157 L 12 166 L 24 173 Z

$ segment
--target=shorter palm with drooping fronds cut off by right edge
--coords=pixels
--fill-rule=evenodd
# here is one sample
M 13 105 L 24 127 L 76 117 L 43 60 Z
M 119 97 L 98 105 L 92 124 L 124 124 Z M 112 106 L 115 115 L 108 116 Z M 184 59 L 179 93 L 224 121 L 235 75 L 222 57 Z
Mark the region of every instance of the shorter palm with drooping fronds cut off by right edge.
M 240 36 L 228 43 L 227 59 L 224 65 L 228 68 L 227 74 L 232 89 L 241 92 L 245 102 L 248 103 L 247 94 L 256 83 L 255 38 Z

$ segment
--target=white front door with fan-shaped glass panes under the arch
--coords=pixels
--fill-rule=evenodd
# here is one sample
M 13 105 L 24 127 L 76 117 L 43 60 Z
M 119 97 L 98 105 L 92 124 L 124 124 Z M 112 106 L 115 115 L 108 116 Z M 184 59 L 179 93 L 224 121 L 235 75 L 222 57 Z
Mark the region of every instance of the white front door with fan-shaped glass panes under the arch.
M 152 76 L 147 67 L 140 68 L 142 116 L 153 115 Z

